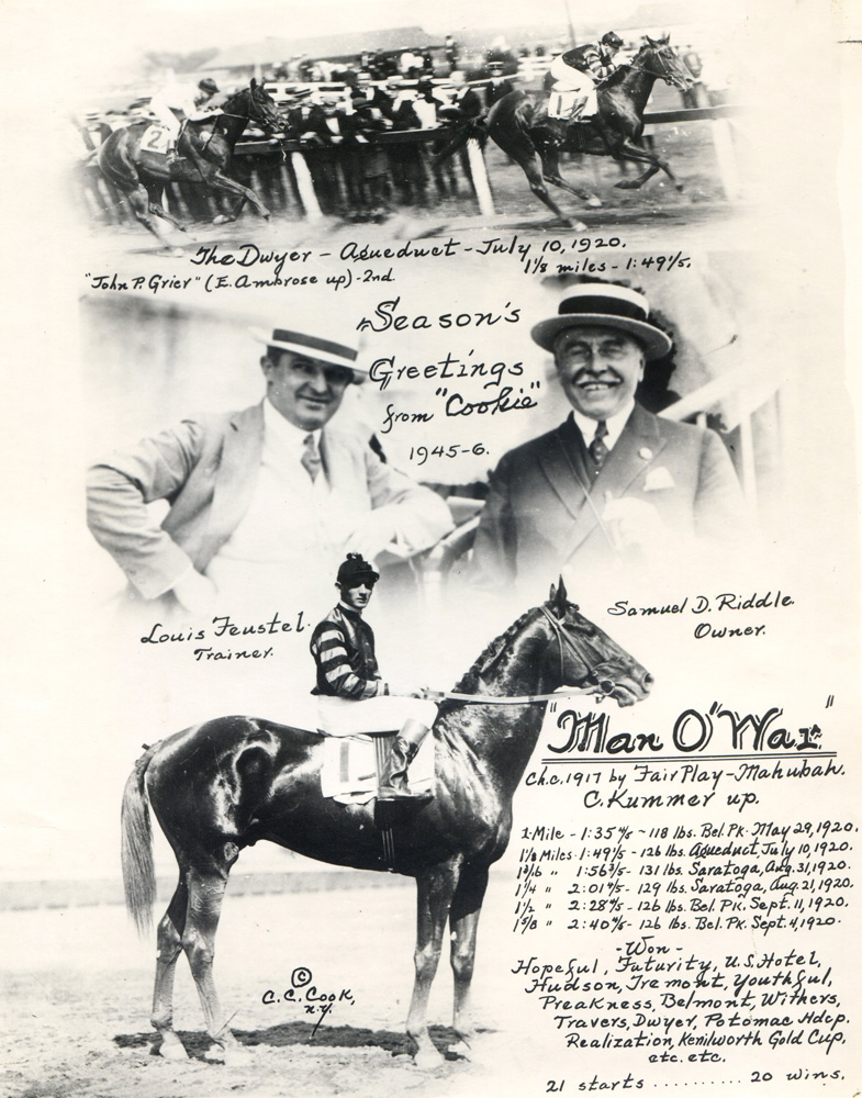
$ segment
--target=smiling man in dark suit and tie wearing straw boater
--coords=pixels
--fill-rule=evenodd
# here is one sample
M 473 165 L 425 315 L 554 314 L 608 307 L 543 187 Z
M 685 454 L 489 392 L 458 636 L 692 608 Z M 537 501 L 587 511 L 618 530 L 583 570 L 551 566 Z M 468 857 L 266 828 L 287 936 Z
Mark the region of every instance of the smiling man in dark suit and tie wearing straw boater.
M 671 548 L 739 530 L 745 505 L 721 439 L 635 400 L 645 365 L 671 350 L 642 294 L 572 287 L 531 335 L 553 355 L 572 413 L 492 473 L 473 580 L 497 587 L 609 560 L 667 561 Z

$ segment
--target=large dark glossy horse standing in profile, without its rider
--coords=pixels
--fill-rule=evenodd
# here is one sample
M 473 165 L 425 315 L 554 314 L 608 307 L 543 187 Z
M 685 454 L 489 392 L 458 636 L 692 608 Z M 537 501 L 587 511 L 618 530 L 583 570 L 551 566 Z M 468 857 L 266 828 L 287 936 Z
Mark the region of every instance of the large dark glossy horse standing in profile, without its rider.
M 570 685 L 631 705 L 646 696 L 651 682 L 639 663 L 567 602 L 560 581 L 545 605 L 492 641 L 457 690 L 520 698 Z M 421 1066 L 440 1060 L 426 1009 L 447 920 L 454 1027 L 458 1050 L 469 1047 L 470 981 L 488 871 L 508 843 L 512 797 L 536 746 L 544 708 L 444 702 L 434 725 L 434 800 L 419 808 L 398 806 L 394 869 L 415 877 L 417 886 L 416 978 L 407 1032 Z M 336 865 L 388 869 L 378 826 L 382 806 L 343 805 L 321 795 L 323 740 L 317 732 L 269 720 L 221 717 L 163 740 L 135 764 L 123 798 L 123 877 L 142 932 L 155 898 L 147 795 L 180 867 L 158 927 L 152 1021 L 161 1034 L 163 1056 L 186 1056 L 172 1022 L 173 973 L 183 951 L 206 1030 L 221 1045 L 217 1055 L 231 1061 L 245 1052 L 231 1032 L 212 975 L 227 876 L 244 847 L 269 839 Z

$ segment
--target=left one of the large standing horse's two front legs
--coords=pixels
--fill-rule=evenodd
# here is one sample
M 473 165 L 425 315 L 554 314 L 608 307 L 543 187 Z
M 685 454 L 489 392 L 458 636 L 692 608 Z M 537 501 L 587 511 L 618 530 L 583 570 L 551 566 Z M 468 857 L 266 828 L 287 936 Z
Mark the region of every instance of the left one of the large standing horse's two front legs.
M 413 1058 L 418 1067 L 436 1067 L 443 1061 L 428 1033 L 428 996 L 440 961 L 443 931 L 460 867 L 459 855 L 416 877 L 416 950 L 413 954 L 416 978 L 407 1015 L 407 1035 L 416 1044 Z

